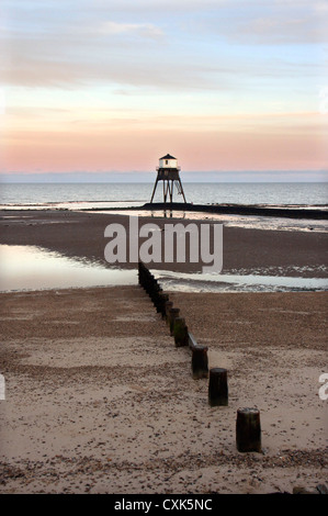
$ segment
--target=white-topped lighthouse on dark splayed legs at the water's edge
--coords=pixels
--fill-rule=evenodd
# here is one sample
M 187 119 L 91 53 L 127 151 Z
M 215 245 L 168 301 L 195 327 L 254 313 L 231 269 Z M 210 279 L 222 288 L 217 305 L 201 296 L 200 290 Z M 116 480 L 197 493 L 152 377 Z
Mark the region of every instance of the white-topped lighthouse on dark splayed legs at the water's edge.
M 157 167 L 157 178 L 155 181 L 154 190 L 152 190 L 152 195 L 150 199 L 150 203 L 152 202 L 157 184 L 159 181 L 162 181 L 162 194 L 163 194 L 163 202 L 165 204 L 167 202 L 173 202 L 173 189 L 176 186 L 176 189 L 178 191 L 179 195 L 183 197 L 184 202 L 185 197 L 180 179 L 180 167 L 178 167 L 178 159 L 174 158 L 174 156 L 171 156 L 170 154 L 167 154 L 162 158 L 159 158 L 159 167 Z

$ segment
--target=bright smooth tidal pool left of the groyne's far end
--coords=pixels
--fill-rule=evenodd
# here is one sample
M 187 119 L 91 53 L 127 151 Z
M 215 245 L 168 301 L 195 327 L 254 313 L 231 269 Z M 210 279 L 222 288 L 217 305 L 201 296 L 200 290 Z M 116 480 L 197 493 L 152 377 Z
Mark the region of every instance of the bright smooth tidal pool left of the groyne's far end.
M 136 284 L 137 271 L 109 269 L 33 246 L 0 246 L 0 291 Z

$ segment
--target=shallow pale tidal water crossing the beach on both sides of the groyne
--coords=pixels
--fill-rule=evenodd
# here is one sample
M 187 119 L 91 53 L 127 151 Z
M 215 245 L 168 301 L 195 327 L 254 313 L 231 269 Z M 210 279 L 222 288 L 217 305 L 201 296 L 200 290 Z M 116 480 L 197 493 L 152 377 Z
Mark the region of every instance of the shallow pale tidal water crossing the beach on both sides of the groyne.
M 326 278 L 182 273 L 154 270 L 166 291 L 272 292 L 328 290 Z M 106 268 L 33 246 L 0 245 L 0 291 L 137 284 L 135 269 Z

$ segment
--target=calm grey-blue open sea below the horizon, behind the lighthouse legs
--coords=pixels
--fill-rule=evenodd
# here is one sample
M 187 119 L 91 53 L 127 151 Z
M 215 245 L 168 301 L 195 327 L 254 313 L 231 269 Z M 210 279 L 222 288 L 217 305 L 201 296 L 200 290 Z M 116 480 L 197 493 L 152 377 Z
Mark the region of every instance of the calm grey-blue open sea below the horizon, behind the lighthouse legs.
M 0 184 L 0 207 L 126 207 L 150 201 L 154 183 Z M 328 203 L 328 183 L 184 183 L 188 202 L 267 205 Z M 177 199 L 181 198 L 177 195 Z M 155 202 L 162 200 L 157 189 Z

